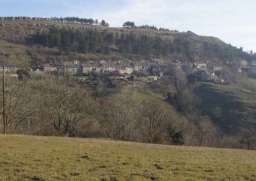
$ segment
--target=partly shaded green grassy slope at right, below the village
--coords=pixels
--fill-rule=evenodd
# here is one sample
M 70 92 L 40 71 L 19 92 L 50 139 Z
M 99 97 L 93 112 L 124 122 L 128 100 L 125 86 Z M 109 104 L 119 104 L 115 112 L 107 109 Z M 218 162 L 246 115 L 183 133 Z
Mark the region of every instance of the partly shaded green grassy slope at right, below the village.
M 239 126 L 255 125 L 255 93 L 236 85 L 198 83 L 195 91 L 200 110 L 222 128 L 235 132 Z

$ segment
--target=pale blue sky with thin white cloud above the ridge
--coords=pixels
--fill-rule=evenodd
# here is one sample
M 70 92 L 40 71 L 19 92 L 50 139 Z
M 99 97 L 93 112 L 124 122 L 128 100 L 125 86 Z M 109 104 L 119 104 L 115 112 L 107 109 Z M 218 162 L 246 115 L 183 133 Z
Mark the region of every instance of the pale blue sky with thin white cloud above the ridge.
M 0 16 L 126 21 L 215 36 L 256 52 L 255 0 L 0 0 Z

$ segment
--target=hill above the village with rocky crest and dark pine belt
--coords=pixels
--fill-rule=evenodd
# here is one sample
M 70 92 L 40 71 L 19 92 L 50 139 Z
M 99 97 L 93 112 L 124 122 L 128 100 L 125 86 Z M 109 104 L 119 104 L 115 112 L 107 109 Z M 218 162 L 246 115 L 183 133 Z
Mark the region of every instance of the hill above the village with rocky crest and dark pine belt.
M 65 31 L 64 31 L 65 29 Z M 72 40 L 77 36 L 76 31 L 84 33 L 84 42 L 97 42 L 83 45 L 83 41 Z M 90 32 L 97 41 L 89 36 Z M 68 35 L 67 45 L 64 46 L 63 36 Z M 51 37 L 54 34 L 60 36 L 60 44 L 52 44 Z M 50 39 L 50 43 L 35 41 L 36 36 Z M 70 36 L 70 37 L 69 37 Z M 88 37 L 87 37 L 88 36 Z M 110 36 L 110 37 L 109 37 Z M 89 39 L 86 39 L 89 38 Z M 113 40 L 111 40 L 113 38 Z M 41 19 L 3 20 L 0 21 L 0 39 L 2 43 L 19 43 L 26 48 L 22 54 L 28 54 L 31 64 L 60 59 L 120 59 L 120 57 L 165 57 L 166 59 L 180 59 L 185 62 L 210 62 L 212 64 L 230 64 L 237 59 L 252 61 L 253 57 L 243 52 L 243 48 L 232 47 L 218 38 L 198 36 L 190 31 L 184 33 L 174 31 L 155 31 L 143 28 L 115 28 L 103 25 L 84 25 L 74 23 L 60 23 Z M 55 41 L 55 40 L 54 40 Z M 40 51 L 35 45 L 40 44 Z M 10 44 L 9 44 L 10 45 Z M 9 46 L 8 45 L 8 46 Z M 79 50 L 79 47 L 87 46 L 88 50 Z M 15 46 L 13 46 L 15 47 Z M 83 49 L 83 48 L 82 48 Z M 60 50 L 60 51 L 59 51 Z M 17 55 L 15 48 L 13 54 Z M 20 59 L 14 64 L 28 66 L 28 59 Z

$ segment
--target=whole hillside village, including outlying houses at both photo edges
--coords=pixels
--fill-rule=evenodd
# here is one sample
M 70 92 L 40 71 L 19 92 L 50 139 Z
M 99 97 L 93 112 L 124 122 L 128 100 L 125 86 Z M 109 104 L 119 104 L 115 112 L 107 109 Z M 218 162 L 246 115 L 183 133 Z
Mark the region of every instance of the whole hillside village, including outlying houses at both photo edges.
M 242 73 L 248 68 L 255 68 L 256 62 L 237 61 L 237 72 Z M 6 73 L 12 76 L 17 76 L 18 69 L 15 66 L 4 66 Z M 3 70 L 3 66 L 0 66 L 0 70 Z M 125 82 L 134 82 L 136 86 L 138 82 L 157 82 L 163 76 L 172 75 L 175 76 L 175 71 L 184 73 L 189 80 L 189 83 L 196 82 L 214 82 L 221 84 L 233 84 L 230 79 L 221 78 L 221 71 L 223 66 L 209 65 L 209 62 L 181 62 L 177 59 L 173 61 L 166 61 L 163 59 L 152 58 L 148 61 L 86 61 L 80 62 L 74 61 L 60 61 L 49 62 L 42 64 L 36 68 L 30 69 L 34 73 L 68 73 L 76 76 L 79 80 L 97 84 L 97 76 L 109 78 L 109 83 L 115 85 L 115 80 L 122 80 Z

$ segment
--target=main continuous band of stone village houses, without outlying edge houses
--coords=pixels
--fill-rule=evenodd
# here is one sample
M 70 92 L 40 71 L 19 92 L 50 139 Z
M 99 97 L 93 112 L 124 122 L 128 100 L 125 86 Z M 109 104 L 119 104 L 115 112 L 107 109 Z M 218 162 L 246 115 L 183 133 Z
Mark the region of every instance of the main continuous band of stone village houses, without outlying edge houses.
M 172 63 L 164 64 L 162 59 L 151 59 L 150 61 L 134 62 L 126 61 L 72 61 L 61 63 L 49 63 L 38 67 L 38 71 L 57 71 L 65 72 L 71 75 L 120 75 L 134 77 L 134 81 L 157 81 L 164 76 L 164 73 L 170 71 L 170 68 L 182 70 L 190 82 L 216 82 L 228 83 L 229 80 L 220 78 L 221 66 L 208 66 L 207 62 L 187 62 L 182 63 L 174 60 Z

